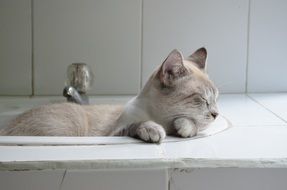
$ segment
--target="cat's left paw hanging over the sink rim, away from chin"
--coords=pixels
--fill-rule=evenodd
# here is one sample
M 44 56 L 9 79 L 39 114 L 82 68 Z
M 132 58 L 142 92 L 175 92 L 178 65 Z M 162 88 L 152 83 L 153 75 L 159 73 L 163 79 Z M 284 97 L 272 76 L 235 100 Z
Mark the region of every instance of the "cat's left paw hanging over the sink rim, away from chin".
M 160 143 L 166 133 L 161 125 L 153 121 L 146 121 L 137 127 L 136 135 L 145 142 Z

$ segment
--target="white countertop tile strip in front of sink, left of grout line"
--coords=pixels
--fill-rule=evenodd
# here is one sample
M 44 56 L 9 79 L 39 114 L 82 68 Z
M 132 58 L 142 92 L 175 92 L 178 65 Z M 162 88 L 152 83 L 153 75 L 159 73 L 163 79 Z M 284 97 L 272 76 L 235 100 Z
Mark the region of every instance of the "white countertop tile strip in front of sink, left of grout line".
M 94 146 L 0 146 L 0 162 L 163 159 L 156 144 Z

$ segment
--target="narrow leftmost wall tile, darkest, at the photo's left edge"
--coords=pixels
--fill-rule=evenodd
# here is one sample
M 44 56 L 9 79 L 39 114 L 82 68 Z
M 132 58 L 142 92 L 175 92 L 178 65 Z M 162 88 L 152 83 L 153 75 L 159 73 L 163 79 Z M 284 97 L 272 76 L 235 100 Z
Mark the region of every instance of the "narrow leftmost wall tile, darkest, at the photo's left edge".
M 0 1 L 0 95 L 31 94 L 31 1 Z

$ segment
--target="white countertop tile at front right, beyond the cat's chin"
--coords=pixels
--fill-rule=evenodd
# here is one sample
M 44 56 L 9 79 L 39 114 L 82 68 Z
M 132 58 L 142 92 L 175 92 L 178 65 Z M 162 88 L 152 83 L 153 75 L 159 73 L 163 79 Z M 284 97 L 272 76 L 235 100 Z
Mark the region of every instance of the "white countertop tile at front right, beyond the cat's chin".
M 287 158 L 287 125 L 234 127 L 223 133 L 193 141 L 166 143 L 169 159 L 263 159 Z

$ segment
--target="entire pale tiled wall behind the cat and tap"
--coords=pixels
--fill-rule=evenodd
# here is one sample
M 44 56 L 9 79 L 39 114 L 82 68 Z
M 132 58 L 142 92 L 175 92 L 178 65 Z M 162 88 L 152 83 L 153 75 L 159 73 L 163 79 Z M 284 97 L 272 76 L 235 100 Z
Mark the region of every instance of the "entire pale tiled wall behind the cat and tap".
M 287 91 L 287 2 L 1 0 L 0 95 L 61 95 L 92 66 L 91 94 L 135 94 L 174 48 L 205 46 L 221 92 Z M 246 81 L 247 80 L 247 81 Z

